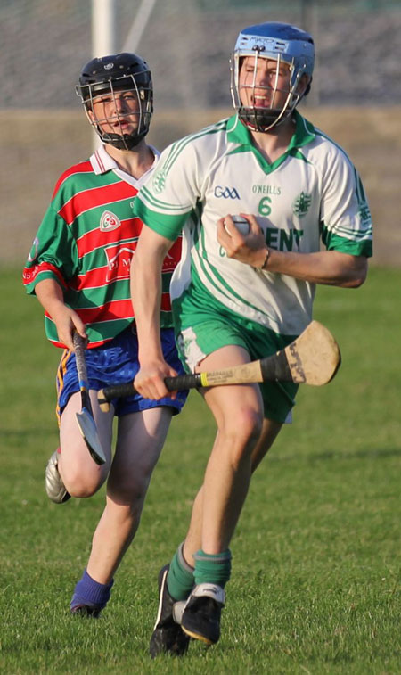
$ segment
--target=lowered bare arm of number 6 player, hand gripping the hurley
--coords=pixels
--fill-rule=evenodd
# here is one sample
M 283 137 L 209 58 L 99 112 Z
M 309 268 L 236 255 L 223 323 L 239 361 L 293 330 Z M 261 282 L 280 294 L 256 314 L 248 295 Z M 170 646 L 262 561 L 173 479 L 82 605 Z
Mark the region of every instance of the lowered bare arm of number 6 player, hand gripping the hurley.
M 174 368 L 164 360 L 160 344 L 161 268 L 170 246 L 169 239 L 143 226 L 131 263 L 131 293 L 141 364 L 135 389 L 146 399 L 167 396 L 164 378 L 176 375 Z

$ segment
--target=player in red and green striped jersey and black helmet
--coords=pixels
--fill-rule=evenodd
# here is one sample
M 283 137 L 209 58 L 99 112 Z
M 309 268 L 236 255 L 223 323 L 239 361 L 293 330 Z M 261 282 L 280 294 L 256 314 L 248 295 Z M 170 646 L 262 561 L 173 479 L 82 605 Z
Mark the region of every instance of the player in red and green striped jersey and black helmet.
M 129 272 L 142 222 L 133 216 L 132 207 L 158 152 L 146 143 L 153 92 L 151 72 L 140 56 L 112 54 L 88 62 L 77 93 L 102 143 L 89 160 L 60 177 L 29 253 L 24 284 L 45 308 L 48 339 L 63 350 L 57 374 L 60 448 L 46 467 L 47 495 L 57 504 L 70 497 L 91 497 L 107 481 L 105 508 L 70 603 L 72 613 L 98 616 L 135 537 L 151 473 L 186 394 L 159 401 L 140 395 L 117 399 L 107 415 L 96 403 L 96 390 L 132 381 L 138 369 Z M 181 366 L 168 286 L 180 251 L 177 241 L 163 263 L 160 309 L 160 340 L 175 369 Z M 104 465 L 94 463 L 78 429 L 74 331 L 87 339 L 86 367 L 107 457 Z M 113 454 L 114 416 L 118 432 Z

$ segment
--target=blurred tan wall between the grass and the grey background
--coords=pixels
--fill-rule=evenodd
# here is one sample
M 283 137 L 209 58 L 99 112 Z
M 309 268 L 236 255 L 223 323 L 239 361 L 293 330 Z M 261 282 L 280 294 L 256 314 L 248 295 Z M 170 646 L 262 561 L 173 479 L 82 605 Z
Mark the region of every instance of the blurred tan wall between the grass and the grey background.
M 375 224 L 373 263 L 400 265 L 401 106 L 306 107 L 302 113 L 342 145 L 363 178 Z M 149 141 L 162 149 L 227 114 L 157 112 Z M 0 111 L 2 267 L 23 266 L 57 178 L 91 147 L 82 111 Z

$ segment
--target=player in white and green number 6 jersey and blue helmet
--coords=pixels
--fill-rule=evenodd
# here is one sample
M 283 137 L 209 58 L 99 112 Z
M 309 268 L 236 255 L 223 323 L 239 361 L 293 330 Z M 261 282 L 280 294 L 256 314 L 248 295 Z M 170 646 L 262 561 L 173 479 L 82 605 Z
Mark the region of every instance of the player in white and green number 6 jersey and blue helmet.
M 360 178 L 346 153 L 296 110 L 314 59 L 312 37 L 289 24 L 242 30 L 231 59 L 235 114 L 168 147 L 143 185 L 132 265 L 135 387 L 143 396 L 166 396 L 163 378 L 174 375 L 160 350 L 158 307 L 161 261 L 181 231 L 171 297 L 187 370 L 274 353 L 311 321 L 315 284 L 364 283 L 372 223 Z M 248 233 L 233 216 L 245 218 Z M 186 538 L 160 571 L 153 656 L 174 651 L 182 633 L 217 642 L 229 546 L 250 476 L 291 420 L 296 387 L 241 384 L 202 394 L 217 435 Z

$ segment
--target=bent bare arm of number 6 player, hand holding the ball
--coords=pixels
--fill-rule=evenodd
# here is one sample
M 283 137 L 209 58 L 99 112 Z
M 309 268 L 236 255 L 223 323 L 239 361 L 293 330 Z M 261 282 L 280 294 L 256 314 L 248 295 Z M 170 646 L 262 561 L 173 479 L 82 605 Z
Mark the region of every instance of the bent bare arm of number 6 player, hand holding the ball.
M 364 283 L 368 263 L 364 256 L 348 255 L 340 251 L 301 253 L 276 251 L 266 245 L 263 232 L 255 216 L 246 215 L 250 233 L 241 232 L 231 224 L 230 217 L 217 222 L 217 241 L 228 258 L 233 258 L 265 272 L 293 276 L 312 284 L 326 284 L 342 288 L 357 288 Z M 231 235 L 225 221 L 230 222 Z

